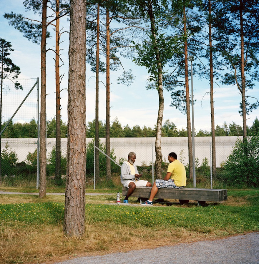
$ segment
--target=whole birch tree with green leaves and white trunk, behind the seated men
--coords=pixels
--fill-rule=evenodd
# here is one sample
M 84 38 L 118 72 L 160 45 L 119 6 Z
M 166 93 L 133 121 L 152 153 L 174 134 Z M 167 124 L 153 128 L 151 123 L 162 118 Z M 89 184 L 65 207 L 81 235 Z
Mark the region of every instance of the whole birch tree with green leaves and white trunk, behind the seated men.
M 156 123 L 156 140 L 155 140 L 155 174 L 157 178 L 162 178 L 162 149 L 161 149 L 161 138 L 162 138 L 162 121 L 164 112 L 164 95 L 163 95 L 163 74 L 164 66 L 168 60 L 172 57 L 174 51 L 174 39 L 168 38 L 163 32 L 160 15 L 165 11 L 167 1 L 152 1 L 152 0 L 137 0 L 131 3 L 135 8 L 133 11 L 136 15 L 141 16 L 147 23 L 149 30 L 147 31 L 147 39 L 142 43 L 136 43 L 135 49 L 137 56 L 134 61 L 140 65 L 147 67 L 150 74 L 150 81 L 152 82 L 148 88 L 155 88 L 158 92 L 158 114 Z

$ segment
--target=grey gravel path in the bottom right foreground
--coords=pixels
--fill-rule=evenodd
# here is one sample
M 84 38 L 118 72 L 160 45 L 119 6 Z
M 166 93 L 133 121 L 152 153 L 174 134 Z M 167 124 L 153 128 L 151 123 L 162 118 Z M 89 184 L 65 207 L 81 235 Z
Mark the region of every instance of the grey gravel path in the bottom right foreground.
M 259 232 L 218 240 L 182 243 L 155 249 L 131 250 L 80 257 L 55 264 L 259 264 Z

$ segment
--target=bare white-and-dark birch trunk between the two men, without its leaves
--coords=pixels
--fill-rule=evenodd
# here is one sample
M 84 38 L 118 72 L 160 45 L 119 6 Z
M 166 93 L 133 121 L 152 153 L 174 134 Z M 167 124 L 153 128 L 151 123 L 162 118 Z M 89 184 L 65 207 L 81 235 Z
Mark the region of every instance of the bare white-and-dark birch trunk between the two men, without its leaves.
M 162 83 L 162 64 L 160 59 L 160 51 L 157 44 L 157 36 L 155 30 L 155 17 L 153 14 L 152 2 L 148 1 L 148 14 L 150 17 L 151 24 L 151 34 L 153 36 L 153 47 L 155 49 L 156 63 L 157 63 L 157 84 L 158 84 L 158 97 L 159 97 L 159 107 L 157 115 L 157 131 L 156 131 L 156 141 L 155 141 L 155 175 L 157 179 L 162 179 L 162 149 L 161 149 L 161 138 L 162 138 L 162 121 L 164 112 L 164 95 L 163 95 L 163 83 Z

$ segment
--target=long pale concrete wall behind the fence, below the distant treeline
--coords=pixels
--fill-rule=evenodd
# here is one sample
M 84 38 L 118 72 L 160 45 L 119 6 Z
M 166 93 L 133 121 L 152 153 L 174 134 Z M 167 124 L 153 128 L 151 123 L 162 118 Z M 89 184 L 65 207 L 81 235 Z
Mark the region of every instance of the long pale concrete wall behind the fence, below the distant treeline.
M 243 139 L 243 137 L 239 137 Z M 220 167 L 220 163 L 227 159 L 238 137 L 216 137 L 216 166 Z M 92 138 L 86 139 L 87 143 Z M 105 138 L 100 141 L 105 145 Z M 25 161 L 29 152 L 34 152 L 37 148 L 37 139 L 2 139 L 1 148 L 5 148 L 8 142 L 11 150 L 14 150 L 18 156 L 18 162 Z M 47 157 L 49 152 L 55 147 L 55 139 L 47 138 Z M 114 149 L 116 161 L 119 158 L 127 159 L 128 153 L 134 151 L 136 153 L 136 165 L 149 165 L 152 160 L 155 162 L 155 138 L 111 138 L 111 149 Z M 67 138 L 61 139 L 61 148 L 65 152 L 67 149 Z M 163 160 L 167 162 L 168 153 L 175 152 L 178 159 L 185 165 L 188 163 L 188 142 L 187 137 L 162 137 L 162 155 Z M 195 157 L 198 158 L 201 165 L 202 160 L 206 157 L 210 165 L 211 153 L 211 137 L 195 137 Z

